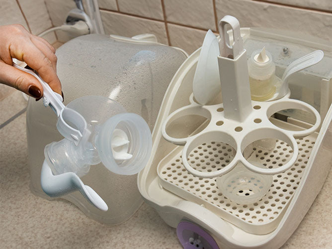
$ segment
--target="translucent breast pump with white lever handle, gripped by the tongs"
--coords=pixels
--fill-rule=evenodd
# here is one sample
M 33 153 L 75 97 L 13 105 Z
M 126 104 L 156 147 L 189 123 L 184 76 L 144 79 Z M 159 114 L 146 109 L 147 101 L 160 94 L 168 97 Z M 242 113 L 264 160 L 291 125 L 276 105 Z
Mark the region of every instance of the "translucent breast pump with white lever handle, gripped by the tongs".
M 150 129 L 142 117 L 127 113 L 119 103 L 106 97 L 86 96 L 68 104 L 63 110 L 63 119 L 75 128 L 75 124 L 66 120 L 69 117 L 66 114 L 73 111 L 82 115 L 86 122 L 83 136 L 78 144 L 64 138 L 45 146 L 42 188 L 52 197 L 79 190 L 93 205 L 107 211 L 106 203 L 90 187 L 83 185 L 78 177 L 72 178 L 75 184 L 66 185 L 63 181 L 67 179 L 55 178 L 44 168 L 49 167 L 56 176 L 72 172 L 81 177 L 87 174 L 90 165 L 102 162 L 116 174 L 136 174 L 150 157 Z

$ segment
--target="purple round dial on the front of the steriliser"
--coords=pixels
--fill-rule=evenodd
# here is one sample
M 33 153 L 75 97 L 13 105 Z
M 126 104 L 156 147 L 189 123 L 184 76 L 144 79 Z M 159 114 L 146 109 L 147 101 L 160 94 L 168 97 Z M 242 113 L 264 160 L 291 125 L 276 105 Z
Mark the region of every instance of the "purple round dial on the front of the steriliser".
M 176 235 L 184 249 L 219 249 L 211 235 L 187 221 L 177 225 Z

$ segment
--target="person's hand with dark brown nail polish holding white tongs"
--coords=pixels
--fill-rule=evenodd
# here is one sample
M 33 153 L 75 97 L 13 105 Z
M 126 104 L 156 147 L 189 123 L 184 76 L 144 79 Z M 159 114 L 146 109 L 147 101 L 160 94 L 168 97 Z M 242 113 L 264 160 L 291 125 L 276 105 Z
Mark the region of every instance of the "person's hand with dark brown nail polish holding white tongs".
M 0 26 L 0 83 L 39 100 L 43 96 L 42 85 L 31 74 L 14 68 L 12 58 L 24 61 L 54 92 L 62 94 L 55 48 L 20 24 Z

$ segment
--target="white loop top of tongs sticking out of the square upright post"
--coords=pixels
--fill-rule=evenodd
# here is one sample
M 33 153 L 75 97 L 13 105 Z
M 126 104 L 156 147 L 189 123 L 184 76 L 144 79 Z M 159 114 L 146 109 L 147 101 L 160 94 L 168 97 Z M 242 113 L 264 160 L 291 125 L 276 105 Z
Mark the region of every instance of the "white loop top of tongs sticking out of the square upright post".
M 233 44 L 230 44 L 230 37 L 227 33 L 226 24 L 232 27 Z M 219 22 L 219 50 L 220 56 L 235 59 L 243 52 L 243 41 L 240 33 L 240 23 L 237 18 L 225 15 Z

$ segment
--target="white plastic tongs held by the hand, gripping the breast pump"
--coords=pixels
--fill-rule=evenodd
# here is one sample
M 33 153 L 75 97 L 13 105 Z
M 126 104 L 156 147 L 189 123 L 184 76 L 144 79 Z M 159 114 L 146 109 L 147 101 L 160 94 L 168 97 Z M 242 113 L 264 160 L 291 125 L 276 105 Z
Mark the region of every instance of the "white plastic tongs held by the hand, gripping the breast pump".
M 66 110 L 68 111 L 70 110 L 69 111 L 70 115 L 65 115 L 65 116 L 70 117 L 71 123 L 75 124 L 79 129 L 76 129 L 71 125 L 67 124 L 65 120 L 68 120 L 68 117 L 67 118 L 63 117 L 65 105 L 62 103 L 63 101 L 62 96 L 58 93 L 55 93 L 52 90 L 52 88 L 45 81 L 43 81 L 43 79 L 35 71 L 20 67 L 14 62 L 13 62 L 13 67 L 28 74 L 31 74 L 40 82 L 40 84 L 43 87 L 43 105 L 45 107 L 49 106 L 57 115 L 58 117 L 57 128 L 59 132 L 61 133 L 61 135 L 73 141 L 76 145 L 78 145 L 83 136 L 83 131 L 86 129 L 86 121 L 82 117 L 82 115 L 74 110 L 67 108 Z

